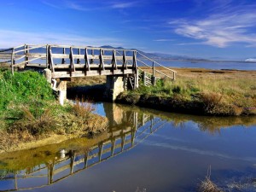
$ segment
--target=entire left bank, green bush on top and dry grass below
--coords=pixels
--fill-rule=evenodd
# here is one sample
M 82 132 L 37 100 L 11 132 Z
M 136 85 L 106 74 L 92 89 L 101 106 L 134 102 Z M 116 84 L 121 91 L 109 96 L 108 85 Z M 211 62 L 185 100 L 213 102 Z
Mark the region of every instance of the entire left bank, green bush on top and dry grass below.
M 90 104 L 60 106 L 44 77 L 32 71 L 0 71 L 0 151 L 52 135 L 92 136 L 104 131 L 107 119 Z

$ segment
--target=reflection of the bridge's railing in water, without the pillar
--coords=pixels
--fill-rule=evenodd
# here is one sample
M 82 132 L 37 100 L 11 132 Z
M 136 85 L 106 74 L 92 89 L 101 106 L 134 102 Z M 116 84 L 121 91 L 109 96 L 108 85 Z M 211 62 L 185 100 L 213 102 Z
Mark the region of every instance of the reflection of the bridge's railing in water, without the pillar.
M 14 180 L 14 189 L 4 191 L 24 190 L 42 188 L 52 183 L 59 182 L 70 175 L 81 172 L 91 166 L 96 166 L 102 161 L 109 160 L 118 154 L 122 154 L 143 142 L 148 136 L 157 131 L 165 124 L 165 121 L 154 118 L 153 115 L 143 114 L 141 118 L 138 113 L 133 113 L 133 125 L 124 127 L 122 130 L 111 131 L 107 140 L 91 147 L 84 154 L 79 154 L 75 150 L 61 150 L 56 160 L 51 160 L 44 165 L 33 167 L 13 173 L 12 177 L 3 180 Z M 39 186 L 20 187 L 22 179 L 31 184 L 29 179 L 39 178 L 44 181 Z M 43 179 L 44 178 L 44 179 Z

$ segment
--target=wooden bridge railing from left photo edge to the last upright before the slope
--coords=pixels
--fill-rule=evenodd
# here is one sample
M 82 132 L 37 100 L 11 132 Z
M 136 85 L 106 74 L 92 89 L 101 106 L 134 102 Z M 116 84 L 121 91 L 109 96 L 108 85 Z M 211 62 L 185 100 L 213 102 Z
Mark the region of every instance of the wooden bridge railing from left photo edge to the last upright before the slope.
M 70 77 L 137 73 L 137 51 L 133 49 L 24 44 L 0 50 L 1 58 L 13 73 L 15 67 L 47 67 L 53 73 L 70 72 Z

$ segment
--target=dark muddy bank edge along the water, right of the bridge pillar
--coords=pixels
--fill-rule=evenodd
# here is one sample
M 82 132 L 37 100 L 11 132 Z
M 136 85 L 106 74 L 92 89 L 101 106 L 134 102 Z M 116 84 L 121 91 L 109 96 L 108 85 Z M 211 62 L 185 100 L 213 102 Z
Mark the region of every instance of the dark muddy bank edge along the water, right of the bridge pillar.
M 137 105 L 143 108 L 154 108 L 166 112 L 197 115 L 238 116 L 256 114 L 256 108 L 237 108 L 221 102 L 202 102 L 200 99 L 186 100 L 178 96 L 140 96 L 123 93 L 117 97 L 116 102 Z

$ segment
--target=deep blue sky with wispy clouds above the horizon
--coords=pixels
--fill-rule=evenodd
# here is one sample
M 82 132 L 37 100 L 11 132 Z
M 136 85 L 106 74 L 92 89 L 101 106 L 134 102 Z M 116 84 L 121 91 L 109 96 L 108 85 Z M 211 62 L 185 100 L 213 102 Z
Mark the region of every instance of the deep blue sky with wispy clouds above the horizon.
M 256 57 L 254 0 L 0 0 L 0 48 L 112 45 L 201 58 Z

